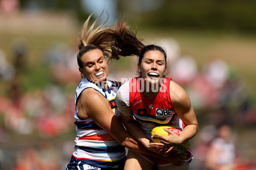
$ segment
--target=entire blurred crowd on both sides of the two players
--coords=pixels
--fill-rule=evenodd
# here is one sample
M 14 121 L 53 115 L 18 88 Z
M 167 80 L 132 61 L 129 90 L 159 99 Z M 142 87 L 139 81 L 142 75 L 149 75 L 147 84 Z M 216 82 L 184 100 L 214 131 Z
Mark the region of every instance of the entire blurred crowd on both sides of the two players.
M 175 40 L 163 39 L 160 42 L 169 55 L 167 77 L 172 77 L 173 81 L 183 86 L 197 111 L 200 125 L 197 136 L 200 138 L 192 146 L 195 159 L 191 167 L 213 170 L 214 168 L 207 167 L 206 158 L 208 148 L 219 144 L 212 143 L 219 137 L 217 127 L 223 123 L 241 127 L 256 123 L 256 110 L 250 106 L 246 82 L 223 59 L 212 59 L 199 68 L 193 57 L 180 54 Z M 50 70 L 52 82 L 48 82 L 44 88 L 34 87 L 25 92 L 21 88 L 20 74 L 26 67 L 29 49 L 24 43 L 27 41 L 19 40 L 13 44 L 14 62 L 8 62 L 6 54 L 0 50 L 0 82 L 8 82 L 6 94 L 0 96 L 0 169 L 64 169 L 73 152 L 67 148 L 74 145 L 74 136 L 61 143 L 54 141 L 75 129 L 75 88 L 70 92 L 62 85 L 79 83 L 77 51 L 63 43 L 50 45 L 42 54 L 44 65 Z M 120 73 L 111 73 L 111 76 L 117 80 L 124 76 L 133 77 Z M 21 144 L 15 139 L 16 136 L 28 138 L 23 140 L 27 144 Z M 34 136 L 42 140 L 32 142 Z M 232 153 L 229 161 L 238 160 L 239 156 L 235 156 L 236 144 L 230 143 L 230 146 Z M 236 170 L 256 169 L 250 156 L 246 157 L 244 163 L 246 164 L 237 166 Z

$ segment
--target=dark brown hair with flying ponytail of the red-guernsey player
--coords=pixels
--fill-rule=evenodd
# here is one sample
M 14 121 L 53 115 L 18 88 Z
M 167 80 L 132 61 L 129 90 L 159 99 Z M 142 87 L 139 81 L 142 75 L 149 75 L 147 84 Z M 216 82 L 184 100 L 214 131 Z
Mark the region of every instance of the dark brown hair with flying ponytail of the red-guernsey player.
M 136 33 L 137 31 L 133 33 L 129 29 L 123 18 L 117 21 L 115 25 L 115 46 L 119 49 L 119 55 L 124 57 L 135 55 L 139 57 L 139 64 L 141 64 L 144 54 L 154 50 L 163 53 L 166 61 L 166 51 L 163 48 L 157 45 L 144 45 L 143 40 L 136 37 Z

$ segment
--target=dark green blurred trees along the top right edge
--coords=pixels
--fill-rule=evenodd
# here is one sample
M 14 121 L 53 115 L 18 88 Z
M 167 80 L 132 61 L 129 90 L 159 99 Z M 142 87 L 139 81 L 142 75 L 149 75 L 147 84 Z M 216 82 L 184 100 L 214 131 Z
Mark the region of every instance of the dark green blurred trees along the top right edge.
M 140 28 L 256 30 L 255 0 L 119 0 L 118 7 Z

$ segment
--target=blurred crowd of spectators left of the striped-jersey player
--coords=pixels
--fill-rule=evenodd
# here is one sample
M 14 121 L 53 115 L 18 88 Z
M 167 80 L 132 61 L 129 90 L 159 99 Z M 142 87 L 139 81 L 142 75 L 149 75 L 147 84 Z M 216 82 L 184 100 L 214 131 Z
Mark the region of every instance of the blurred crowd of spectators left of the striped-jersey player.
M 65 59 L 74 55 L 66 53 L 70 47 L 50 45 L 44 51 L 47 58 L 42 64 L 48 66 L 53 81 L 44 88 L 23 91 L 20 79 L 27 69 L 27 41 L 17 38 L 12 45 L 13 62 L 8 62 L 0 50 L 0 82 L 6 84 L 5 94 L 0 95 L 0 170 L 64 169 L 73 152 L 68 152 L 72 147 L 66 146 L 70 141 L 59 143 L 52 139 L 74 130 L 75 104 L 73 93 L 65 92 L 56 83 L 73 79 L 79 82 L 80 75 L 72 74 L 68 67 L 74 64 L 76 68 L 76 62 Z

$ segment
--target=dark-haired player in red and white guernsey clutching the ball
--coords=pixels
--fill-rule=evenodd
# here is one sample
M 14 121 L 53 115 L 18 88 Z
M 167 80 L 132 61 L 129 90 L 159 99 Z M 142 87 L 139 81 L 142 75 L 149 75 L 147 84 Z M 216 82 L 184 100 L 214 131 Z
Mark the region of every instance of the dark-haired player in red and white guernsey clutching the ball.
M 125 82 L 117 92 L 116 103 L 127 131 L 146 148 L 154 145 L 160 151 L 168 153 L 169 147 L 179 145 L 191 139 L 198 131 L 198 122 L 186 92 L 165 78 L 166 52 L 157 45 L 143 45 L 135 34 L 125 27 L 116 30 L 116 46 L 120 55 L 136 55 L 140 77 Z M 184 68 L 186 69 L 186 68 Z M 135 118 L 135 119 L 134 119 Z M 168 137 L 156 134 L 162 143 L 151 143 L 151 130 L 159 125 L 175 124 L 183 129 L 180 136 L 166 129 Z M 157 137 L 154 137 L 157 138 Z M 190 150 L 181 165 L 172 164 L 154 156 L 146 156 L 129 150 L 125 170 L 150 170 L 154 164 L 158 170 L 189 170 L 192 159 Z M 151 164 L 149 164 L 150 162 Z

